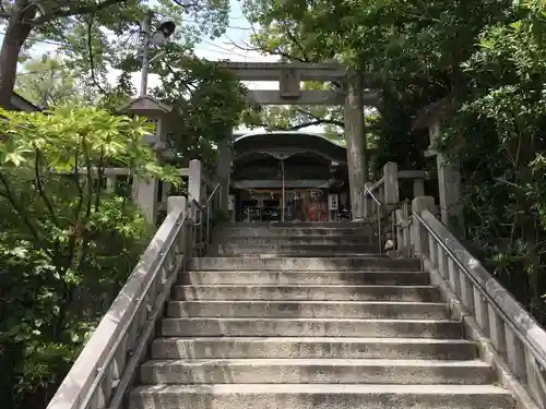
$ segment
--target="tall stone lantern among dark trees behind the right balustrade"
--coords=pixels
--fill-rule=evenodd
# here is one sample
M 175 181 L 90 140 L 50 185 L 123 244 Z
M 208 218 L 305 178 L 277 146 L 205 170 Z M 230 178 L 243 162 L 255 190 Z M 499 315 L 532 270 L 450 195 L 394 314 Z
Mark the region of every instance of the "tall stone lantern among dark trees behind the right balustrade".
M 425 108 L 413 123 L 413 129 L 428 129 L 430 146 L 426 157 L 436 156 L 438 168 L 438 193 L 440 199 L 441 221 L 453 231 L 464 231 L 463 206 L 461 203 L 461 170 L 458 161 L 436 151 L 441 124 L 449 112 L 446 100 L 440 100 Z

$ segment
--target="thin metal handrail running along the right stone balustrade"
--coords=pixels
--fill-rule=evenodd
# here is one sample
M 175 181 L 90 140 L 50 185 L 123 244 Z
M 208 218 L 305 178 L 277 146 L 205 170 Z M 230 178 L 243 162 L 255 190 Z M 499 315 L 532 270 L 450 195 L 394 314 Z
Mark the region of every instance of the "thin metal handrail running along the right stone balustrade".
M 423 227 L 425 227 L 425 229 L 436 239 L 436 242 L 438 244 L 440 244 L 440 246 L 446 251 L 446 253 L 448 253 L 448 255 L 453 260 L 453 262 L 459 266 L 459 268 L 461 268 L 461 270 L 464 272 L 464 274 L 470 278 L 470 280 L 478 289 L 479 293 L 487 299 L 488 303 L 494 308 L 494 310 L 499 315 L 502 316 L 502 318 L 503 318 L 502 321 L 506 324 L 508 324 L 515 334 L 518 334 L 520 340 L 525 345 L 525 347 L 530 348 L 534 352 L 535 359 L 538 361 L 538 363 L 544 369 L 546 369 L 546 350 L 535 346 L 534 342 L 532 342 L 527 339 L 526 335 L 523 334 L 522 330 L 517 325 L 517 323 L 513 322 L 513 318 L 502 310 L 502 308 L 498 304 L 497 300 L 492 296 L 489 294 L 487 289 L 484 288 L 482 282 L 479 280 L 477 280 L 476 277 L 474 277 L 474 275 L 470 272 L 470 269 L 459 260 L 456 254 L 451 249 L 449 249 L 449 246 L 446 243 L 443 243 L 442 239 L 427 224 L 427 221 L 419 214 L 414 214 L 414 216 L 417 218 L 417 220 L 419 220 L 420 225 L 423 225 Z M 440 221 L 438 221 L 438 222 L 440 222 Z M 453 239 L 453 240 L 455 240 L 455 239 Z M 491 276 L 491 278 L 495 279 L 492 276 Z M 500 286 L 500 287 L 502 287 L 502 286 Z M 529 315 L 525 312 L 525 310 L 523 310 L 523 308 L 518 303 L 518 301 L 515 301 L 512 297 L 510 297 L 510 298 L 511 298 L 511 300 L 510 300 L 511 302 L 513 302 L 515 305 L 520 306 L 522 312 L 524 312 L 526 315 Z M 530 320 L 532 320 L 531 316 L 529 316 L 529 317 L 530 317 Z

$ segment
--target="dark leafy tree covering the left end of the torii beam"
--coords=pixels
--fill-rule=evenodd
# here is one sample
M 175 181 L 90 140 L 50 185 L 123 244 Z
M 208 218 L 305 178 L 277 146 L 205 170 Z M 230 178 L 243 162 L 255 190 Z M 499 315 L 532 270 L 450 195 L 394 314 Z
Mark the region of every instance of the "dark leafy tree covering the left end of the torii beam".
M 242 86 L 230 72 L 176 44 L 168 45 L 152 70 L 162 84 L 153 94 L 178 113 L 168 139 L 177 153 L 174 160 L 187 167 L 189 160 L 199 157 L 205 168 L 215 166 L 216 143 L 229 136 L 247 108 Z

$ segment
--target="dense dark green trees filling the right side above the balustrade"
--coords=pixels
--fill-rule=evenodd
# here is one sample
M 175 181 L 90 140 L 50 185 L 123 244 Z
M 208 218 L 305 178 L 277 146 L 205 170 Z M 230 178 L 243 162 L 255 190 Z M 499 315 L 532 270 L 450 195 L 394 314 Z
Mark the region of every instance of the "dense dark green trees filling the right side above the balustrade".
M 247 0 L 246 10 L 264 52 L 336 60 L 381 94 L 376 167 L 434 171 L 412 122 L 447 101 L 437 147 L 461 164 L 467 244 L 545 323 L 544 1 Z

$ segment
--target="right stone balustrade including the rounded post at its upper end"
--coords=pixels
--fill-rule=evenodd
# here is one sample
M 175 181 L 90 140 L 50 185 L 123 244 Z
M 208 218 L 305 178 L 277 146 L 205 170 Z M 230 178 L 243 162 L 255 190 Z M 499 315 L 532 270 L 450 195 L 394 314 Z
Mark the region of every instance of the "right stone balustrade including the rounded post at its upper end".
M 438 219 L 434 197 L 396 209 L 399 255 L 423 260 L 452 315 L 464 322 L 480 356 L 518 408 L 546 408 L 546 332 Z

